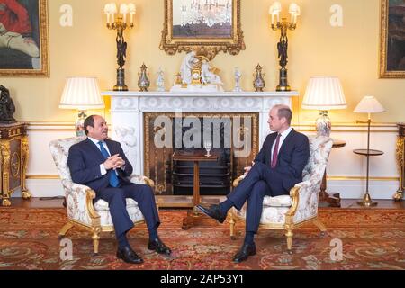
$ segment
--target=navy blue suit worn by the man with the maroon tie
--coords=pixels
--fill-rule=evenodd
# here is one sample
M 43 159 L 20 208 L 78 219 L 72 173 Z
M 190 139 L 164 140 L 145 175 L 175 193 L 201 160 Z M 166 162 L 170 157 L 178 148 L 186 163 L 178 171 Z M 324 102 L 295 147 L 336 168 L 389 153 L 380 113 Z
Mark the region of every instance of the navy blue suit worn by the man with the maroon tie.
M 266 137 L 255 158 L 255 165 L 245 179 L 227 196 L 240 210 L 247 201 L 246 230 L 257 232 L 266 195 L 288 195 L 290 189 L 302 182 L 302 170 L 310 157 L 310 143 L 304 134 L 291 130 L 279 149 L 277 164 L 271 167 L 272 146 L 277 133 Z

